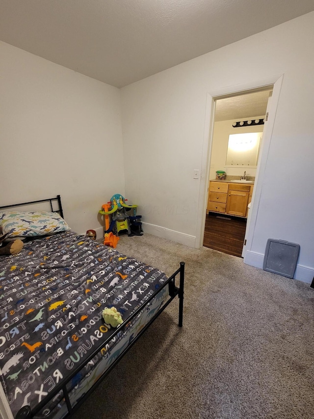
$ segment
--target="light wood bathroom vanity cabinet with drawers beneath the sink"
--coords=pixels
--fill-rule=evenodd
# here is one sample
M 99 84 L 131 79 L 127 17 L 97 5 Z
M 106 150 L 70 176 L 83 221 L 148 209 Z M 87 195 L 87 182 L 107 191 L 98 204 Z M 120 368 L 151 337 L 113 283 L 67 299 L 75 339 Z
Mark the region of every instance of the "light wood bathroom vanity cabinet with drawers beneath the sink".
M 210 181 L 207 211 L 247 217 L 254 184 L 228 181 Z

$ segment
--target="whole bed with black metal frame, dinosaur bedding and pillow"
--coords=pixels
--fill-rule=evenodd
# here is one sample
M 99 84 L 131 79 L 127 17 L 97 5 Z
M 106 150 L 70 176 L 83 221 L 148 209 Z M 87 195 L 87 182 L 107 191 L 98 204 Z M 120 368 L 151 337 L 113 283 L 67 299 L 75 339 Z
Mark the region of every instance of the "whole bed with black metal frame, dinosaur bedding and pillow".
M 183 262 L 168 278 L 75 233 L 60 196 L 0 207 L 0 225 L 24 240 L 0 256 L 0 379 L 15 418 L 71 416 L 177 296 L 182 327 Z M 105 324 L 105 307 L 119 327 Z

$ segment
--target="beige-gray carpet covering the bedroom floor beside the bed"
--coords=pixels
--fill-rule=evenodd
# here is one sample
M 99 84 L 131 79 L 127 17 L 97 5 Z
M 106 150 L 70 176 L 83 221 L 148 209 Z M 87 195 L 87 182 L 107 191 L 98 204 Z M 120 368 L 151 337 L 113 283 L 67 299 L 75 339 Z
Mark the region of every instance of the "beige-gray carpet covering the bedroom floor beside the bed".
M 176 299 L 75 419 L 314 418 L 309 284 L 148 234 L 117 250 L 168 275 L 186 263 L 183 328 Z

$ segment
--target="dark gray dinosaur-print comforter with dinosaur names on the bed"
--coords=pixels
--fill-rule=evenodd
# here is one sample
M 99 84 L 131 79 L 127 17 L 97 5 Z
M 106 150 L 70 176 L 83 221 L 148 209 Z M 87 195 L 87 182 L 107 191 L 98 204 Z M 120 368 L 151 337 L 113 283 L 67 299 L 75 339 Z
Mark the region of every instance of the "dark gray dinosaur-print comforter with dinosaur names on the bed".
M 0 377 L 13 415 L 41 402 L 114 332 L 102 318 L 105 307 L 116 307 L 124 326 L 166 279 L 161 271 L 73 231 L 31 240 L 19 254 L 1 256 Z M 110 352 L 120 353 L 131 342 L 135 333 L 128 328 L 139 329 L 140 316 L 102 347 L 69 389 L 75 391 Z M 121 340 L 125 335 L 127 343 Z M 62 398 L 57 394 L 39 416 L 52 417 Z

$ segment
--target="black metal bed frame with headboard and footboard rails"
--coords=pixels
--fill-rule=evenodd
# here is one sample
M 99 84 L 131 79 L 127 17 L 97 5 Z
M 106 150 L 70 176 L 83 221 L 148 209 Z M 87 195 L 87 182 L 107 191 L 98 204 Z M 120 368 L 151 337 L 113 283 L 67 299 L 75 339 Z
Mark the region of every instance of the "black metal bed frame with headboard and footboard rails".
M 57 200 L 58 202 L 58 210 L 52 209 L 52 201 Z M 31 202 L 24 202 L 21 204 L 14 204 L 14 205 L 6 205 L 6 206 L 0 206 L 0 210 L 4 208 L 10 208 L 10 207 L 17 207 L 17 206 L 23 206 L 28 204 L 36 204 L 41 202 L 50 202 L 51 210 L 52 212 L 59 212 L 61 217 L 63 217 L 63 211 L 62 211 L 62 205 L 61 205 L 61 197 L 60 195 L 57 195 L 53 198 L 48 199 L 41 199 L 37 201 L 31 201 Z M 179 275 L 179 287 L 176 285 L 176 277 Z M 121 331 L 123 332 L 125 325 L 127 325 L 134 317 L 136 317 L 139 312 L 147 306 L 159 293 L 159 291 L 164 288 L 165 286 L 169 286 L 169 297 L 167 301 L 163 304 L 162 307 L 159 308 L 159 310 L 156 312 L 156 314 L 152 317 L 152 319 L 141 329 L 141 331 L 138 333 L 138 335 L 131 341 L 130 345 L 113 361 L 113 363 L 104 371 L 103 375 L 93 384 L 93 386 L 75 403 L 74 406 L 72 406 L 70 397 L 69 397 L 69 391 L 67 389 L 67 384 L 72 380 L 72 378 L 78 374 L 78 372 L 87 364 L 89 363 L 101 350 L 106 346 L 106 344 L 118 333 Z M 89 355 L 89 357 L 84 361 L 83 364 L 78 365 L 77 368 L 73 370 L 71 374 L 69 374 L 65 380 L 62 380 L 62 383 L 58 384 L 53 391 L 49 393 L 39 404 L 37 404 L 33 409 L 31 409 L 30 406 L 23 406 L 19 412 L 17 413 L 15 419 L 30 419 L 33 418 L 38 412 L 40 412 L 46 404 L 52 400 L 52 398 L 59 393 L 60 391 L 63 392 L 63 397 L 66 402 L 66 406 L 68 409 L 68 413 L 64 418 L 69 418 L 72 416 L 72 414 L 78 410 L 78 408 L 81 406 L 81 404 L 86 400 L 86 398 L 101 384 L 101 382 L 105 379 L 105 377 L 109 374 L 109 372 L 112 370 L 112 368 L 123 358 L 123 356 L 131 349 L 133 344 L 140 338 L 140 336 L 149 328 L 149 326 L 157 319 L 159 314 L 162 313 L 162 311 L 171 303 L 172 300 L 175 299 L 175 297 L 179 297 L 179 327 L 183 326 L 183 294 L 184 294 L 184 262 L 180 262 L 180 268 L 177 269 L 176 272 L 174 272 L 155 292 L 152 296 L 150 296 L 144 304 L 137 308 L 130 317 L 128 317 L 122 324 L 122 326 L 118 327 L 113 333 L 108 336 L 106 339 L 104 339 L 97 348 L 93 351 L 92 354 Z M 71 390 L 70 390 L 71 391 Z

